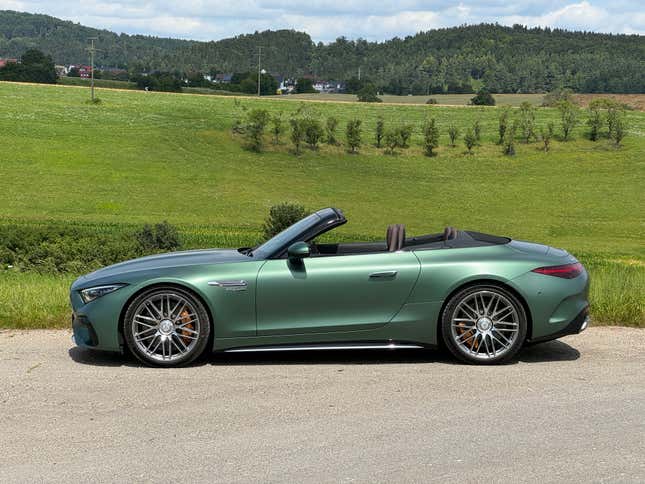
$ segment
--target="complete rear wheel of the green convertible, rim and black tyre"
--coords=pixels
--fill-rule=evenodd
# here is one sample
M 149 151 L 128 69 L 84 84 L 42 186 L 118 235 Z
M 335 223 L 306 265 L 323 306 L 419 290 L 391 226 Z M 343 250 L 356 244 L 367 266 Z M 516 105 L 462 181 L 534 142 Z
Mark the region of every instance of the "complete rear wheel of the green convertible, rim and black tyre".
M 469 363 L 499 363 L 512 358 L 526 337 L 524 307 L 502 287 L 471 286 L 446 305 L 442 334 L 448 349 Z

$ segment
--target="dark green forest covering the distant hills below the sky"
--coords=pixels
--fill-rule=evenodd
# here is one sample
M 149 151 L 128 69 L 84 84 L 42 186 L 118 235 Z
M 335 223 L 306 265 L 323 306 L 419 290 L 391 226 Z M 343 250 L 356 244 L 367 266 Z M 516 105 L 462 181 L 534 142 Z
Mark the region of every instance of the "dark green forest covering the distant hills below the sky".
M 117 34 L 46 15 L 0 11 L 0 57 L 38 48 L 56 63 L 87 62 L 87 38 L 98 37 L 97 65 L 131 73 L 271 74 L 349 81 L 369 79 L 388 94 L 645 92 L 645 39 L 639 35 L 571 32 L 480 24 L 428 30 L 368 42 L 315 43 L 304 32 L 278 30 L 199 42 Z

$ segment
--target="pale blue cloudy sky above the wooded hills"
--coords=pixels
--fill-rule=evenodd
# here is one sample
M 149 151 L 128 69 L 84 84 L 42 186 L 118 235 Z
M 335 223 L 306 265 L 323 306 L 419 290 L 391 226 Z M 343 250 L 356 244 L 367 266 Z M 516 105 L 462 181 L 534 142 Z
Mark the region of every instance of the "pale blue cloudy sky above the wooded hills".
M 295 29 L 314 41 L 387 40 L 480 22 L 645 34 L 645 2 L 624 0 L 0 0 L 0 10 L 44 13 L 118 33 L 218 40 Z

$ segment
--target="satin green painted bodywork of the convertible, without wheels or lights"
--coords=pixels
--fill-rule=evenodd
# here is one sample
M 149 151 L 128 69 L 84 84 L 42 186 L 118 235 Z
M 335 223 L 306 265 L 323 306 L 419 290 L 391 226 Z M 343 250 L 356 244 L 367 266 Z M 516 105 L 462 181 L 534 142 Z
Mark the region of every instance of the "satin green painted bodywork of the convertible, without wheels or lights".
M 587 305 L 589 279 L 561 279 L 531 272 L 574 262 L 565 251 L 512 241 L 475 248 L 441 248 L 363 255 L 256 260 L 237 251 L 190 251 L 117 264 L 79 278 L 71 288 L 77 315 L 97 333 L 98 349 L 120 350 L 123 308 L 157 284 L 177 284 L 207 305 L 216 350 L 274 344 L 396 340 L 437 343 L 446 299 L 459 287 L 492 280 L 514 289 L 532 320 L 530 338 L 554 334 Z M 395 271 L 370 278 L 370 274 Z M 245 280 L 246 290 L 210 286 Z M 125 283 L 84 304 L 79 290 Z M 84 344 L 77 334 L 77 343 Z

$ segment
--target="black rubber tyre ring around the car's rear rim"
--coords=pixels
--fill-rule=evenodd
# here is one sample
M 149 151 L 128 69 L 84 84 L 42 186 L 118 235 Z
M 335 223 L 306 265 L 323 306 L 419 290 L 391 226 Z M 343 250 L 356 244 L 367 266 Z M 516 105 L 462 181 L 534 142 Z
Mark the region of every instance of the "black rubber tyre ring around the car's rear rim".
M 452 328 L 451 328 L 452 314 L 455 308 L 457 307 L 457 305 L 459 304 L 459 302 L 461 302 L 464 298 L 468 297 L 472 293 L 479 292 L 479 291 L 491 291 L 491 292 L 497 292 L 503 295 L 505 298 L 511 301 L 511 303 L 515 307 L 515 310 L 517 311 L 518 319 L 519 319 L 519 334 L 517 336 L 517 339 L 513 342 L 513 345 L 511 346 L 511 348 L 503 355 L 500 355 L 495 358 L 485 359 L 485 360 L 475 358 L 461 351 L 452 338 Z M 444 307 L 443 313 L 441 315 L 441 336 L 443 339 L 443 343 L 455 358 L 459 359 L 460 361 L 463 361 L 464 363 L 478 364 L 478 365 L 494 365 L 497 363 L 503 363 L 510 360 L 515 355 L 517 355 L 519 350 L 522 348 L 522 345 L 524 344 L 524 340 L 526 339 L 527 330 L 528 330 L 528 320 L 526 316 L 526 310 L 524 309 L 524 305 L 517 298 L 517 296 L 513 294 L 511 291 L 496 284 L 473 284 L 471 286 L 468 286 L 460 290 L 450 298 L 450 300 Z

